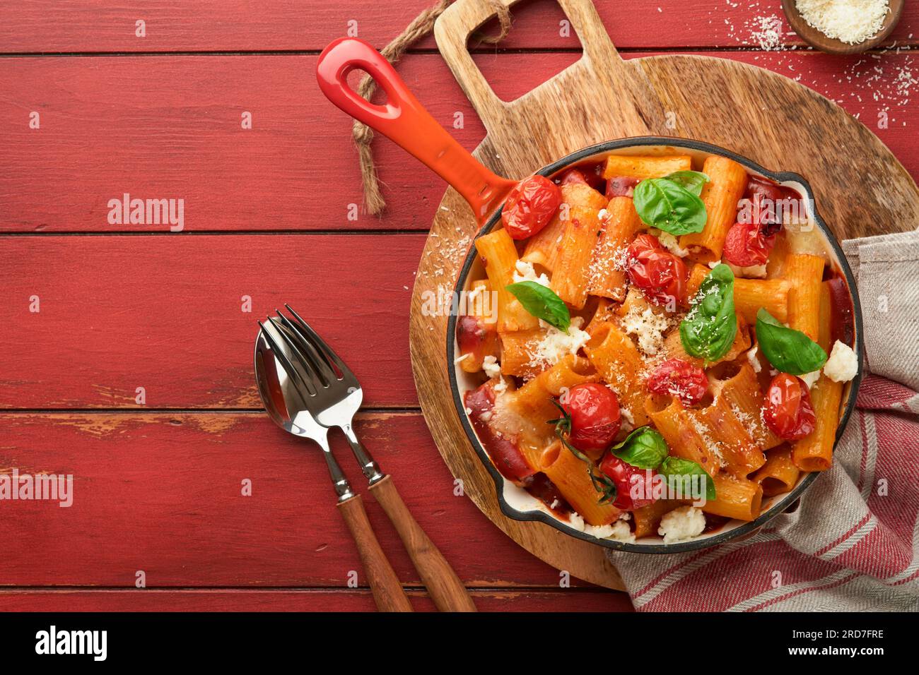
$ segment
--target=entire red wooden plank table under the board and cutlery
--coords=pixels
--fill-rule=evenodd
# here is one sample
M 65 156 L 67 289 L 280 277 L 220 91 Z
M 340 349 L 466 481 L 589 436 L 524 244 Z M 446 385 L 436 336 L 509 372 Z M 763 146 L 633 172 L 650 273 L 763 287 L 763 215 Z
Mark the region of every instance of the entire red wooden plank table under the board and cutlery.
M 362 377 L 360 431 L 482 609 L 630 608 L 576 579 L 562 588 L 454 495 L 408 356 L 413 273 L 445 186 L 377 142 L 389 210 L 354 219 L 350 121 L 321 96 L 316 56 L 349 28 L 380 47 L 428 4 L 0 6 L 0 473 L 74 476 L 70 508 L 0 501 L 0 609 L 373 608 L 360 575 L 349 584 L 360 567 L 322 460 L 259 408 L 255 319 L 284 301 Z M 889 48 L 842 58 L 765 34 L 778 0 L 597 6 L 627 56 L 714 52 L 786 74 L 858 115 L 919 175 L 919 4 Z M 580 53 L 550 0 L 515 16 L 498 48 L 476 54 L 508 99 Z M 464 146 L 481 141 L 433 39 L 399 70 L 445 126 L 462 113 Z M 184 199 L 183 231 L 110 222 L 108 201 L 124 193 Z M 431 609 L 378 505 L 368 510 L 416 606 Z

